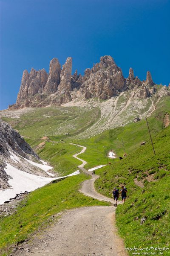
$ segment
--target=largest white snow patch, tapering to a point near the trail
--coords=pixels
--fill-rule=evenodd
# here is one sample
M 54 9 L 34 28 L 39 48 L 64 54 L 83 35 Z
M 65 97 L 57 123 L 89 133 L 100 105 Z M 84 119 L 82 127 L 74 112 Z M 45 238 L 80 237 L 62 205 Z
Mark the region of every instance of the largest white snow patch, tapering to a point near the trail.
M 13 179 L 8 180 L 8 183 L 12 186 L 10 189 L 6 189 L 5 191 L 0 191 L 0 204 L 3 204 L 5 201 L 8 201 L 9 198 L 14 198 L 16 194 L 24 193 L 25 191 L 31 192 L 35 189 L 38 189 L 44 186 L 45 184 L 50 183 L 52 180 L 58 180 L 61 178 L 79 174 L 79 171 L 76 171 L 71 173 L 70 175 L 63 176 L 63 177 L 57 177 L 57 178 L 41 177 L 38 175 L 33 175 L 27 172 L 23 172 L 11 166 L 8 163 L 6 163 L 6 168 L 4 168 L 4 170 Z

